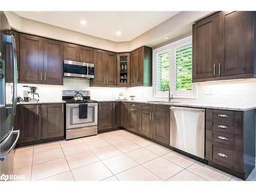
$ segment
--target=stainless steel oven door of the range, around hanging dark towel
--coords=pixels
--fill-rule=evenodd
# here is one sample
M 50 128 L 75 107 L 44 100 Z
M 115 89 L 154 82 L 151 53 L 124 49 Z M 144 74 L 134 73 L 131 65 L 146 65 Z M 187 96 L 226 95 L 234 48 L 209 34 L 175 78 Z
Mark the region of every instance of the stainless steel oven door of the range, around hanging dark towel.
M 79 104 L 66 104 L 66 129 L 98 125 L 98 103 L 88 103 L 87 119 L 79 119 Z

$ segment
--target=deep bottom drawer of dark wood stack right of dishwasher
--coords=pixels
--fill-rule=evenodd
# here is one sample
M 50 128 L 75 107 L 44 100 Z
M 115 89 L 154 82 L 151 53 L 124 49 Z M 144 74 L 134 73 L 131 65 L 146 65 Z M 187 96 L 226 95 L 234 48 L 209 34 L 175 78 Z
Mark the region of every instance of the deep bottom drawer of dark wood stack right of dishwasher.
M 241 148 L 207 139 L 205 141 L 205 147 L 205 159 L 243 173 L 243 150 Z

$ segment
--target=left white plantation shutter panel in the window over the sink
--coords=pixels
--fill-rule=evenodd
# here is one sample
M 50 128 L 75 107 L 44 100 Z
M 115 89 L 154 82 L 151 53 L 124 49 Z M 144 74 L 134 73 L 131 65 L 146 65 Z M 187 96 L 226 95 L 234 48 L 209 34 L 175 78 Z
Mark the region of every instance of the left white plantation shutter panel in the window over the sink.
M 164 84 L 169 84 L 169 52 L 157 55 L 156 85 L 157 91 L 162 91 Z

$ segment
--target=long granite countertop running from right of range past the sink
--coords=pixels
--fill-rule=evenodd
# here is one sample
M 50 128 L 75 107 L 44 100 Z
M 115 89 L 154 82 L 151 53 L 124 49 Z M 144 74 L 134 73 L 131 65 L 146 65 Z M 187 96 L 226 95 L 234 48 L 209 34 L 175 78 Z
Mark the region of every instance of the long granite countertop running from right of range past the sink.
M 256 109 L 254 105 L 238 105 L 238 104 L 212 104 L 212 103 L 193 103 L 193 102 L 149 102 L 149 101 L 131 101 L 131 100 L 97 100 L 98 102 L 108 102 L 108 101 L 125 101 L 125 102 L 138 102 L 146 104 L 163 104 L 170 106 L 186 106 L 191 108 L 204 108 L 204 109 L 219 109 L 219 110 L 232 110 L 232 111 L 248 111 Z

